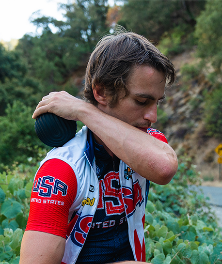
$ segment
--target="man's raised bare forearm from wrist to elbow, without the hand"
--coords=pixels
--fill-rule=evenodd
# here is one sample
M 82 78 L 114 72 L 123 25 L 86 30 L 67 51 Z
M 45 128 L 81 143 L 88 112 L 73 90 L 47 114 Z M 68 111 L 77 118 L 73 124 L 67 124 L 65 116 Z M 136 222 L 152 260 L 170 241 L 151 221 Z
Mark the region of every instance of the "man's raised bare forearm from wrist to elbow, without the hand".
M 168 183 L 177 170 L 177 157 L 166 143 L 147 135 L 91 104 L 79 109 L 79 120 L 121 160 L 141 176 L 158 184 Z

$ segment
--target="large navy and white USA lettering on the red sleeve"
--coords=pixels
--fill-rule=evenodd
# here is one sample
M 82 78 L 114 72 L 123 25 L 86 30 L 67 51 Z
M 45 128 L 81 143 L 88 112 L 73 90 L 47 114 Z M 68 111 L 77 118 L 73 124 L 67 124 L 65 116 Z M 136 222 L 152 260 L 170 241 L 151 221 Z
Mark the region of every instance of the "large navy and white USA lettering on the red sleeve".
M 38 192 L 41 197 L 51 197 L 52 194 L 66 196 L 68 186 L 52 176 L 43 176 L 34 181 L 32 192 Z

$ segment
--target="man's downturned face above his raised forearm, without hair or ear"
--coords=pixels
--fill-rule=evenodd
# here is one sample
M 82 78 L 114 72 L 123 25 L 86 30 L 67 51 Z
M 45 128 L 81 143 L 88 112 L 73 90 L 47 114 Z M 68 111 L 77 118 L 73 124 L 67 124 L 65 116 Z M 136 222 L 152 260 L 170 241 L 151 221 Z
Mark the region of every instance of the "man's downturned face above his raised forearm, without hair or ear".
M 114 108 L 109 105 L 98 107 L 146 132 L 157 121 L 157 105 L 165 97 L 165 84 L 163 73 L 147 65 L 137 66 L 128 80 L 129 95 L 120 96 Z

